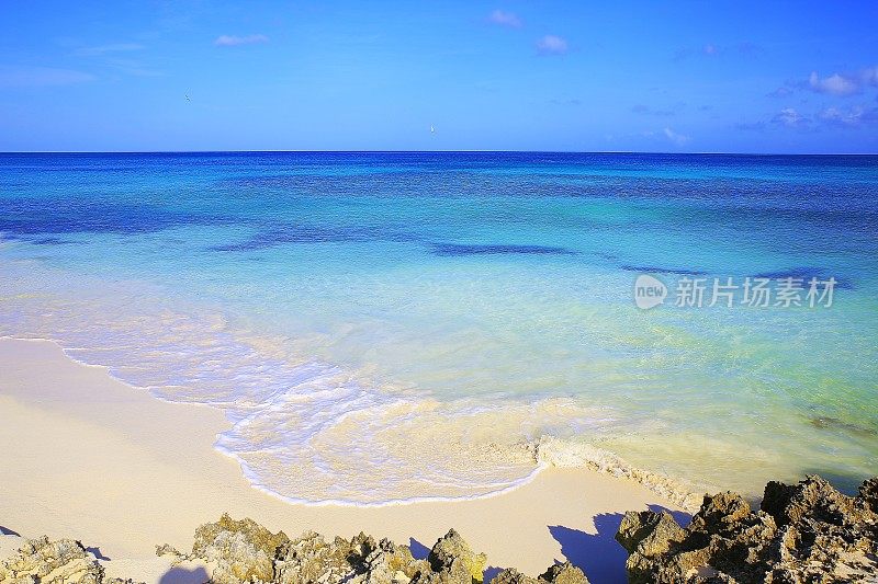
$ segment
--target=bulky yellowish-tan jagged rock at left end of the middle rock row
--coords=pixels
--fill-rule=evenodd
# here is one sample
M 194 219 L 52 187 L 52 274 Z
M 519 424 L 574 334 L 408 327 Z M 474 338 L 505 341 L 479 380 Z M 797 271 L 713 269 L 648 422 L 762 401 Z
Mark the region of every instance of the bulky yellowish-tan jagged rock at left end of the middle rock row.
M 272 534 L 252 519 L 236 522 L 224 514 L 217 523 L 195 530 L 189 559 L 212 564 L 211 581 L 215 584 L 271 582 L 278 549 L 289 541 L 283 531 Z

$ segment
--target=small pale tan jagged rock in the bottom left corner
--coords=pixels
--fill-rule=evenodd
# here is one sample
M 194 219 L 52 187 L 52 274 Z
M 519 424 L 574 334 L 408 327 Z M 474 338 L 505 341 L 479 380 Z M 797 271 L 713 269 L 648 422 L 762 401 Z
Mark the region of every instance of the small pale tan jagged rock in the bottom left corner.
M 103 568 L 82 543 L 72 539 L 27 540 L 0 563 L 2 584 L 101 584 Z

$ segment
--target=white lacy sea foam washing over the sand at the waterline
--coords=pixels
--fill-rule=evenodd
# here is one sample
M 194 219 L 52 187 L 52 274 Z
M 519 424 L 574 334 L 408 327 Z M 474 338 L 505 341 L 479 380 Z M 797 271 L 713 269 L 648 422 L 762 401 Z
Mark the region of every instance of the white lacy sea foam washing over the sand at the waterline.
M 572 398 L 440 400 L 370 385 L 146 283 L 71 280 L 22 261 L 3 268 L 14 277 L 0 284 L 0 335 L 53 340 L 71 358 L 105 366 L 159 399 L 222 409 L 230 427 L 216 448 L 240 462 L 254 486 L 286 501 L 491 496 L 548 465 L 598 460 L 583 456 L 584 447 L 564 454 L 545 432 L 586 436 L 614 423 L 607 409 Z

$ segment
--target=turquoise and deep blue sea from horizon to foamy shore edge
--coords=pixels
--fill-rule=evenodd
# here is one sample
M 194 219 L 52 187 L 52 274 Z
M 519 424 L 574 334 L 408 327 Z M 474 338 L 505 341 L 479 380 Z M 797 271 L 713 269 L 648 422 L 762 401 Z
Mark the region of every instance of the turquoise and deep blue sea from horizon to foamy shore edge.
M 878 473 L 878 157 L 0 154 L 0 336 L 221 408 L 216 447 L 291 501 L 615 457 L 849 486 Z

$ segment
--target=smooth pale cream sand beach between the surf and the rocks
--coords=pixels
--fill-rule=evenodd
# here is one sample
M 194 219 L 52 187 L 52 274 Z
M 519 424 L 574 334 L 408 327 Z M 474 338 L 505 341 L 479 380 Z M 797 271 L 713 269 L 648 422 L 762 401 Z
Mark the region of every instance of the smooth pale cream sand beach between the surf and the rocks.
M 218 410 L 156 400 L 54 343 L 0 340 L 0 527 L 80 539 L 110 558 L 112 572 L 147 582 L 168 570 L 157 543 L 188 549 L 195 527 L 223 512 L 291 536 L 362 530 L 415 549 L 454 527 L 491 566 L 537 574 L 566 558 L 599 584 L 624 582 L 627 554 L 612 540 L 619 514 L 675 508 L 631 481 L 582 469 L 550 469 L 476 501 L 294 505 L 252 489 L 213 448 L 226 427 Z

